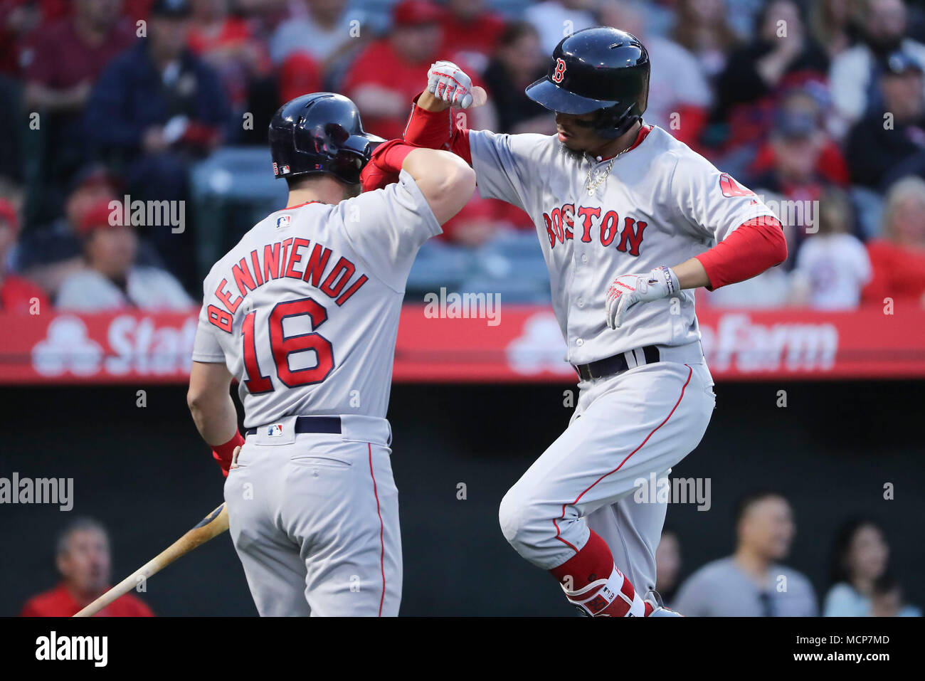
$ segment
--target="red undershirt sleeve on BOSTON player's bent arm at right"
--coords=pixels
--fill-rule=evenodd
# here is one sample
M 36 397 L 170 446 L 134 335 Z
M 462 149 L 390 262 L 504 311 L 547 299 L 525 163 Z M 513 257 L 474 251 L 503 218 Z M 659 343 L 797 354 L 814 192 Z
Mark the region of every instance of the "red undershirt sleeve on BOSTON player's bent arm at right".
M 787 241 L 781 223 L 773 217 L 757 217 L 696 256 L 709 278 L 709 291 L 757 277 L 787 259 Z

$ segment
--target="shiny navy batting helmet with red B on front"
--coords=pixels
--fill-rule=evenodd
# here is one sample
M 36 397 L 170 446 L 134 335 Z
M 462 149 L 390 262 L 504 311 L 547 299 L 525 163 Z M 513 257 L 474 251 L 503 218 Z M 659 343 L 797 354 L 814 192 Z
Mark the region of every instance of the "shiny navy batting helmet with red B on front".
M 599 111 L 601 137 L 620 137 L 648 104 L 648 52 L 631 33 L 609 26 L 576 31 L 552 52 L 549 73 L 526 95 L 563 114 Z

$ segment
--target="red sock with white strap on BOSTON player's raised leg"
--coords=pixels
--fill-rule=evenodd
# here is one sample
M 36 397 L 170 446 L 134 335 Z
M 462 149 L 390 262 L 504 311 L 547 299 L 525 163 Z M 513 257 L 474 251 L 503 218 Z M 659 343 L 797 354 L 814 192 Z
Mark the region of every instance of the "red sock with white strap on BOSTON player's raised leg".
M 607 542 L 594 530 L 581 551 L 549 573 L 562 585 L 565 597 L 584 614 L 642 617 L 651 612 L 651 607 L 646 608 L 633 584 L 613 563 Z

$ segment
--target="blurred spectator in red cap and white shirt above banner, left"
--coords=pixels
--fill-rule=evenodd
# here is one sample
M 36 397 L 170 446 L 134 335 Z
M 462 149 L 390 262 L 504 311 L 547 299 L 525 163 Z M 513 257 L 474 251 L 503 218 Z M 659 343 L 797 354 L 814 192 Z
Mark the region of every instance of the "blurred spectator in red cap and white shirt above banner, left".
M 103 312 L 125 307 L 189 310 L 192 299 L 179 281 L 156 267 L 138 266 L 134 228 L 113 224 L 109 202 L 87 211 L 80 221 L 85 266 L 61 284 L 61 310 Z

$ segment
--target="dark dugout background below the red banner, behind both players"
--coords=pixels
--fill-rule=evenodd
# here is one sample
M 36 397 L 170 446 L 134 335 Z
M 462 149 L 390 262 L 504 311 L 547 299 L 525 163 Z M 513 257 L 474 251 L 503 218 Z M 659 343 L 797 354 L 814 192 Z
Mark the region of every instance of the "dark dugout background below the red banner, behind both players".
M 222 477 L 198 440 L 181 387 L 0 389 L 0 477 L 74 477 L 69 514 L 0 505 L 0 615 L 56 582 L 53 545 L 71 517 L 110 528 L 114 581 L 149 560 L 222 499 Z M 571 614 L 549 576 L 500 534 L 504 492 L 567 425 L 568 385 L 427 386 L 392 390 L 392 464 L 401 491 L 406 615 Z M 712 508 L 672 505 L 684 573 L 732 548 L 744 492 L 780 489 L 797 537 L 788 563 L 824 593 L 835 528 L 854 514 L 887 527 L 910 601 L 925 603 L 925 384 L 724 384 L 705 439 L 674 469 L 710 477 Z M 787 391 L 778 408 L 777 391 Z M 456 498 L 464 482 L 467 499 Z M 883 500 L 883 484 L 895 486 Z M 228 535 L 154 576 L 142 594 L 171 615 L 254 614 Z

